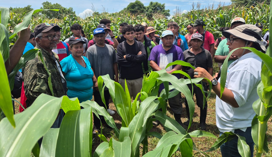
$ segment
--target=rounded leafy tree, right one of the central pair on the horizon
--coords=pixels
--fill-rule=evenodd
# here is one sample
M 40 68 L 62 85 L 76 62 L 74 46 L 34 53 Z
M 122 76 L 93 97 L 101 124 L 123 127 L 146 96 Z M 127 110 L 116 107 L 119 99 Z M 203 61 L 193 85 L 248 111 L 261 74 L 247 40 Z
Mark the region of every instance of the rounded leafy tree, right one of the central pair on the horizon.
M 152 17 L 152 15 L 155 13 L 161 13 L 165 17 L 169 17 L 170 16 L 169 12 L 170 12 L 169 9 L 165 10 L 165 3 L 161 4 L 159 2 L 152 2 L 151 1 L 149 3 L 149 6 L 146 7 L 147 17 Z

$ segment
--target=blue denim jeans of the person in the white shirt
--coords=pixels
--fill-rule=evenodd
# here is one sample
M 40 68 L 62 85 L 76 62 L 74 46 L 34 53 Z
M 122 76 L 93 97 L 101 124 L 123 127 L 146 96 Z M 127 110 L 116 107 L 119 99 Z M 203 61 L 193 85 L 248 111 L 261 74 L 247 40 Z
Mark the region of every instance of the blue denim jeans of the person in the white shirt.
M 251 127 L 248 127 L 245 132 L 243 132 L 240 129 L 236 129 L 234 130 L 234 133 L 245 137 L 247 145 L 249 145 L 249 148 L 250 148 L 251 157 L 253 157 L 254 142 L 251 136 Z M 220 136 L 222 134 L 223 132 L 220 132 Z M 223 143 L 220 146 L 222 157 L 241 157 L 241 155 L 238 152 L 237 142 L 238 142 L 238 137 L 235 136 L 229 142 Z

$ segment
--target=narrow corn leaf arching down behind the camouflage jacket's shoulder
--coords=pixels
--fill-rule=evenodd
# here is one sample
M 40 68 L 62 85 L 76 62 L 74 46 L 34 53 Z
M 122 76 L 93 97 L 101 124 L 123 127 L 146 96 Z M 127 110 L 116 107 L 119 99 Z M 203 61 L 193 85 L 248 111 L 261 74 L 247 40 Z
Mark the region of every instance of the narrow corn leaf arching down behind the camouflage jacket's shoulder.
M 13 71 L 9 74 L 9 86 L 10 90 L 13 89 L 14 86 L 14 77 L 16 73 L 19 71 L 19 69 L 22 69 L 25 67 L 25 64 L 27 61 L 34 59 L 38 54 L 39 49 L 31 49 L 27 51 L 24 55 L 22 55 L 21 59 L 19 60 L 19 63 L 14 67 Z

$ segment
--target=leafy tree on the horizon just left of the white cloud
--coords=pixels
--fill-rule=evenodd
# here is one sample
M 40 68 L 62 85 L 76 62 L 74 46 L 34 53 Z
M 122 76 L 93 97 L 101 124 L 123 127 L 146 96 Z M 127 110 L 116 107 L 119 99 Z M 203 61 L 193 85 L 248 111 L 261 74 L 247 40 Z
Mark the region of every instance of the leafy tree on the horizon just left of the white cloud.
M 43 2 L 42 3 L 43 7 L 41 7 L 40 9 L 59 9 L 58 12 L 55 12 L 55 11 L 51 11 L 51 10 L 48 10 L 48 11 L 42 11 L 42 14 L 49 18 L 49 19 L 52 19 L 52 18 L 58 18 L 60 19 L 62 17 L 63 14 L 70 14 L 70 15 L 75 15 L 76 13 L 73 11 L 73 8 L 65 8 L 65 7 L 62 7 L 61 4 L 52 4 L 51 2 Z

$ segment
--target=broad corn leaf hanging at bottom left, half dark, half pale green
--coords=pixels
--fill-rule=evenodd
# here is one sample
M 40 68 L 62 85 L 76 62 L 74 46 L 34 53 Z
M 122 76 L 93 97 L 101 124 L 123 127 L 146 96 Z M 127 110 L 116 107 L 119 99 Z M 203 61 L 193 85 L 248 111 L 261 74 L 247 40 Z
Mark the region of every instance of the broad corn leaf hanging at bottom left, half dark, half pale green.
M 65 114 L 59 130 L 56 156 L 90 156 L 90 114 L 90 107 L 70 110 Z

